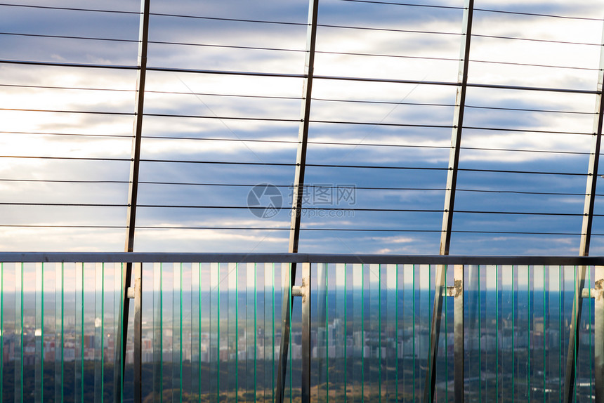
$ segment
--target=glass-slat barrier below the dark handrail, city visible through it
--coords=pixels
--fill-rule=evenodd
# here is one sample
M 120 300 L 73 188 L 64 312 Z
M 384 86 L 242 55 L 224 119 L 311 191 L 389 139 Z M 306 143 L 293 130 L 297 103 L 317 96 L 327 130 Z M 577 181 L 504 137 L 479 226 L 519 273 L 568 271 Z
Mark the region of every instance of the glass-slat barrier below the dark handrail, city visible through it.
M 136 276 L 140 265 L 133 265 Z M 289 263 L 144 263 L 143 399 L 275 403 Z M 122 371 L 121 263 L 0 263 L 3 401 L 114 402 Z M 468 402 L 563 397 L 575 286 L 582 267 L 465 265 L 464 393 Z M 313 401 L 424 400 L 437 265 L 311 265 L 310 351 L 293 297 L 284 401 L 301 399 L 310 355 Z M 595 397 L 595 268 L 587 267 L 573 399 Z M 447 267 L 445 286 L 454 284 Z M 435 402 L 454 401 L 455 299 L 447 291 Z M 133 398 L 133 302 L 125 346 Z

